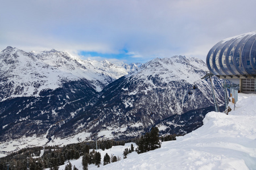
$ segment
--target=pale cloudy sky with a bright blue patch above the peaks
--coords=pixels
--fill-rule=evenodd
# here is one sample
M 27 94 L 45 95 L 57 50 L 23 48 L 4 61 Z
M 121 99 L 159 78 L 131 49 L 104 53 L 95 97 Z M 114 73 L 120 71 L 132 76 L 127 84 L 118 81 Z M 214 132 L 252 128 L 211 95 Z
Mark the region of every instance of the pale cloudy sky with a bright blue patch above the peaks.
M 0 50 L 56 49 L 82 59 L 203 59 L 256 30 L 255 0 L 3 0 Z

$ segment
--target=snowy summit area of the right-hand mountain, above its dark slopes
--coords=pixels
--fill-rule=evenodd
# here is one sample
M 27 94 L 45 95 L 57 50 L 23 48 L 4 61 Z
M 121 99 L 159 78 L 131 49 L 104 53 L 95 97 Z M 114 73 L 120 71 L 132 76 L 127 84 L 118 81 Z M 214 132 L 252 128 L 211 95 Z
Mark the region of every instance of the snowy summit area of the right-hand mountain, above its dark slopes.
M 134 74 L 127 75 L 126 77 L 136 74 L 137 78 L 147 79 L 148 76 L 154 77 L 157 75 L 165 83 L 185 80 L 189 84 L 193 84 L 201 80 L 201 75 L 207 70 L 207 66 L 201 59 L 173 56 L 170 58 L 155 58 L 142 65 L 138 73 L 134 72 Z M 154 86 L 154 83 L 151 83 Z

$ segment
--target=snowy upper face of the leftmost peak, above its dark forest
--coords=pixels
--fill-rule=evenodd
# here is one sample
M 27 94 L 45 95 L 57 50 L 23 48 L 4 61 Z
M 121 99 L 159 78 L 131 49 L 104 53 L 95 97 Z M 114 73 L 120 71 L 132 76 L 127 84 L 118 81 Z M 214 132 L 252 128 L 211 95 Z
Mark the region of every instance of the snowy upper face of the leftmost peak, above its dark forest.
M 0 53 L 0 101 L 7 97 L 38 95 L 46 88 L 60 86 L 60 70 L 49 67 L 34 56 L 12 47 Z M 66 75 L 67 79 L 74 79 Z

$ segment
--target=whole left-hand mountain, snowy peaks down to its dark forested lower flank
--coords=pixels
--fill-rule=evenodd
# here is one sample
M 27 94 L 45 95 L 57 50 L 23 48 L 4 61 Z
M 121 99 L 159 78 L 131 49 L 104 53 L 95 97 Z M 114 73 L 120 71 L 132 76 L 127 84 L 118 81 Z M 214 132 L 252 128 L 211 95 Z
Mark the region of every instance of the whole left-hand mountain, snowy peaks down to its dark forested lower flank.
M 98 91 L 137 69 L 135 64 L 123 65 L 82 61 L 56 50 L 27 53 L 8 46 L 0 53 L 0 141 L 51 136 L 53 125 L 91 107 Z

